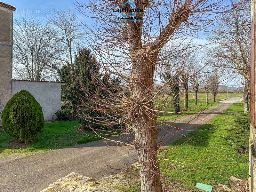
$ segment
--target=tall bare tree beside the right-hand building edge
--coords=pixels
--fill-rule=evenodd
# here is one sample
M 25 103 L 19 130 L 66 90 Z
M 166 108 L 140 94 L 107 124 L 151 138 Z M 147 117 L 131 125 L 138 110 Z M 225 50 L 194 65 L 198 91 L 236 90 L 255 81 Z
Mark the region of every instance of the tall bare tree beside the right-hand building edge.
M 214 66 L 239 73 L 244 77 L 244 112 L 249 112 L 250 28 L 236 24 L 250 22 L 250 2 L 237 1 L 222 15 L 220 24 L 209 34 L 214 43 L 209 54 L 215 57 Z

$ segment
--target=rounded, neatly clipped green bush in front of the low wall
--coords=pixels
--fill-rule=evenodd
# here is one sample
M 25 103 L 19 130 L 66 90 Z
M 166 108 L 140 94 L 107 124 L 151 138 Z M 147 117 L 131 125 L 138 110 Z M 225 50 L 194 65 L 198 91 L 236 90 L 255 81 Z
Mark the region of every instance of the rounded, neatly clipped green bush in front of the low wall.
M 25 143 L 37 139 L 44 127 L 42 107 L 26 90 L 13 95 L 1 117 L 4 131 Z

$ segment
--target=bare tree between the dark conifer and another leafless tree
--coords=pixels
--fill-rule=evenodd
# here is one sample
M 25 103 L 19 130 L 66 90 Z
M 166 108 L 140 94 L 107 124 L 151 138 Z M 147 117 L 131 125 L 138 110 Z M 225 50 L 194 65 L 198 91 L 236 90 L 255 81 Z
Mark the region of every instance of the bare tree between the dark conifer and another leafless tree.
M 82 23 L 78 20 L 75 12 L 69 8 L 57 10 L 53 8 L 50 16 L 47 16 L 49 24 L 54 31 L 55 44 L 52 58 L 55 60 L 53 68 L 60 69 L 61 65 L 69 65 L 73 68 L 73 54 L 77 47 L 83 43 L 84 29 Z

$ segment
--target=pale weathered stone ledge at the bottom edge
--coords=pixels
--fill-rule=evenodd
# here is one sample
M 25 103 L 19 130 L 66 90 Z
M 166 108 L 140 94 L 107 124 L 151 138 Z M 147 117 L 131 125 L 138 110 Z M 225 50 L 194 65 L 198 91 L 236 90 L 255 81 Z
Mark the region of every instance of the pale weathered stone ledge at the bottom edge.
M 67 176 L 60 178 L 40 192 L 90 192 L 95 188 L 104 188 L 110 192 L 121 192 L 115 189 L 105 188 L 97 180 L 79 175 L 75 172 L 71 172 Z

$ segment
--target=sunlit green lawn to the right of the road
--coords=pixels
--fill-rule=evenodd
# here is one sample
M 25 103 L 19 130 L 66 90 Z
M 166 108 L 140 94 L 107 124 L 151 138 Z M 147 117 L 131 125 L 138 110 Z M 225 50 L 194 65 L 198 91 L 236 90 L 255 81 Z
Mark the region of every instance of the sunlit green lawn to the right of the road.
M 195 182 L 227 185 L 231 175 L 247 179 L 248 121 L 249 115 L 244 114 L 242 103 L 231 105 L 208 124 L 199 126 L 199 131 L 190 132 L 189 140 L 183 138 L 169 145 L 167 149 L 171 150 L 159 156 L 172 162 L 161 161 L 161 171 L 187 188 L 194 188 Z M 243 155 L 238 153 L 241 148 Z

